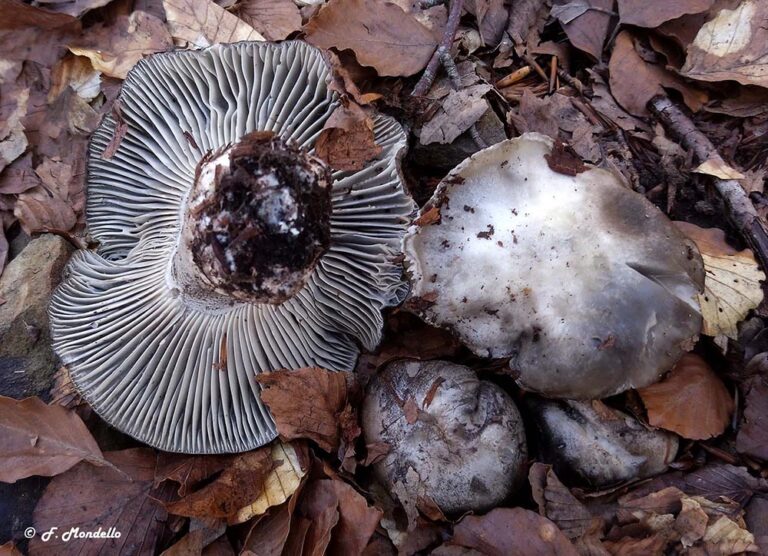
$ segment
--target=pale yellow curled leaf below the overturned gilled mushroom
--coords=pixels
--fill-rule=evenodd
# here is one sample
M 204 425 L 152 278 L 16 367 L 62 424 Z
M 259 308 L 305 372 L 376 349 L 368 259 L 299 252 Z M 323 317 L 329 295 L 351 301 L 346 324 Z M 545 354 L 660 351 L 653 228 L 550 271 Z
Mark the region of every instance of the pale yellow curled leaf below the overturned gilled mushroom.
M 247 506 L 238 510 L 230 523 L 245 523 L 264 514 L 269 508 L 288 500 L 301 485 L 306 475 L 300 456 L 293 444 L 275 442 L 271 446 L 272 470 L 264 478 L 258 495 Z

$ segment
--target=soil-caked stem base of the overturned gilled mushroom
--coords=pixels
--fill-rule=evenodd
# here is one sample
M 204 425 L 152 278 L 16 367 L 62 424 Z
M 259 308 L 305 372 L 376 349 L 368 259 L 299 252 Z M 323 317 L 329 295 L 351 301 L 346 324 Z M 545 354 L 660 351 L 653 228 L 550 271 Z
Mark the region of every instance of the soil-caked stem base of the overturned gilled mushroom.
M 306 283 L 330 243 L 331 174 L 271 132 L 206 157 L 187 212 L 189 250 L 204 282 L 279 304 Z

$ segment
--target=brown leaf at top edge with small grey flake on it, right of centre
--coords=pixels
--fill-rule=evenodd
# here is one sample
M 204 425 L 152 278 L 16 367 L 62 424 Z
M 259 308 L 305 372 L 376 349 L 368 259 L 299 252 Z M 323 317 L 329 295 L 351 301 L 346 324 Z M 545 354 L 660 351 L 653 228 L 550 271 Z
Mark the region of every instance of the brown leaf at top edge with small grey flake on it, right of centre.
M 571 44 L 598 61 L 615 15 L 613 0 L 555 0 L 552 6 Z

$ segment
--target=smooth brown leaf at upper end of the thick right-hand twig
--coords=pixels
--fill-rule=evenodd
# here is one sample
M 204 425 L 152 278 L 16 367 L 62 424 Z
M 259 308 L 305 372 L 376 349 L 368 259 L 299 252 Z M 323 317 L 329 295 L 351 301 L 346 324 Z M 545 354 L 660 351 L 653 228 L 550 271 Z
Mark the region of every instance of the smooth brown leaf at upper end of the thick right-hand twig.
M 672 72 L 643 60 L 635 50 L 629 31 L 622 31 L 616 37 L 608 70 L 611 93 L 627 112 L 635 116 L 646 116 L 646 104 L 663 93 L 664 87 L 680 92 L 685 104 L 693 111 L 706 101 L 704 93 L 688 86 Z

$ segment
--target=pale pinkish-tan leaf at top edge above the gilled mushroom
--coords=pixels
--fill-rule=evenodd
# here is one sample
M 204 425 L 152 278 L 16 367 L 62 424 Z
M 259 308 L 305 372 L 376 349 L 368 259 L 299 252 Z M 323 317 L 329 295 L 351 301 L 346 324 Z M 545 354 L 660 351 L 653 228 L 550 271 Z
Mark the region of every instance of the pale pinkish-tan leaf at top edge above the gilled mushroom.
M 171 36 L 180 46 L 264 40 L 256 29 L 212 0 L 163 0 L 163 8 Z

